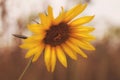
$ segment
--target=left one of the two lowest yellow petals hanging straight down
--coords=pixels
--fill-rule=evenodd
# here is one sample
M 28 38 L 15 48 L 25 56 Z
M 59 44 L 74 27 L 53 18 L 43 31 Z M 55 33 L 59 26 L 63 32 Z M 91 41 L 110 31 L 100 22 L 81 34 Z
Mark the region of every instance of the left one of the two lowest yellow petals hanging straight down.
M 50 71 L 50 67 L 51 67 L 50 60 L 51 60 L 51 46 L 46 45 L 45 46 L 44 61 L 45 61 L 45 65 L 46 65 L 48 71 Z

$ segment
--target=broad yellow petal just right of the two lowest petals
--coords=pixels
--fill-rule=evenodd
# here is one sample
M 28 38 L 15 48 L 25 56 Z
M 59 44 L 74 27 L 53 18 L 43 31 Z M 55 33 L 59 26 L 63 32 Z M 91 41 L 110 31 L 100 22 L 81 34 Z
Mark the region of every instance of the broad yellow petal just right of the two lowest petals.
M 61 64 L 64 67 L 67 67 L 66 56 L 60 46 L 56 47 L 56 55 L 57 55 L 58 60 L 61 62 Z

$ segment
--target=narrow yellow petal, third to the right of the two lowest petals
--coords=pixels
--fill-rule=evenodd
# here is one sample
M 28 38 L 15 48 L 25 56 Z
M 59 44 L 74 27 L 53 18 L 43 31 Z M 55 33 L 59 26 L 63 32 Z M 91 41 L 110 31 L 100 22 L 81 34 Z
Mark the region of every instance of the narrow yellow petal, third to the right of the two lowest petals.
M 84 57 L 84 58 L 87 58 L 87 55 L 83 52 L 83 51 L 81 51 L 81 49 L 78 47 L 78 46 L 76 46 L 76 45 L 74 45 L 72 42 L 70 42 L 70 41 L 66 41 L 66 44 L 72 49 L 72 50 L 74 50 L 76 53 L 78 53 L 78 54 L 80 54 L 82 57 Z

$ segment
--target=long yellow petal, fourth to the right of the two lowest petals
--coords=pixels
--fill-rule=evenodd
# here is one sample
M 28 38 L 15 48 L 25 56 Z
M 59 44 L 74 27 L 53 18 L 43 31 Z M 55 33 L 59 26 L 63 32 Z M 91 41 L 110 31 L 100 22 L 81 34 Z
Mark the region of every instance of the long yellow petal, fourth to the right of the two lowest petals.
M 95 50 L 95 48 L 88 43 L 87 41 L 83 41 L 83 40 L 78 40 L 75 38 L 70 38 L 70 40 L 77 46 L 79 46 L 80 48 L 86 49 L 86 50 Z

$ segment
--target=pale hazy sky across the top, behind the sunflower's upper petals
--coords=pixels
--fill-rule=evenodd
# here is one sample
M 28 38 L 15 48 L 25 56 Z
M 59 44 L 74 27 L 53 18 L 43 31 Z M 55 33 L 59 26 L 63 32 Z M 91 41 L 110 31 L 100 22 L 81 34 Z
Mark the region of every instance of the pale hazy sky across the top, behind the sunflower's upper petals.
M 7 3 L 7 21 L 10 29 L 6 31 L 6 36 L 1 40 L 10 40 L 11 34 L 16 33 L 17 19 L 28 19 L 31 13 L 38 14 L 45 12 L 48 5 L 52 5 L 55 16 L 59 14 L 61 6 L 65 9 L 71 8 L 78 4 L 78 0 L 6 0 Z M 90 22 L 96 30 L 94 35 L 101 38 L 108 28 L 108 23 L 120 25 L 120 0 L 91 0 L 87 9 L 82 15 L 95 15 L 95 19 Z M 0 9 L 1 11 L 1 9 Z M 1 15 L 1 12 L 0 12 Z M 0 17 L 1 18 L 1 17 Z M 2 30 L 0 21 L 0 32 Z M 0 40 L 0 42 L 1 42 Z M 13 41 L 13 40 L 10 40 Z M 6 43 L 7 44 L 7 43 Z

